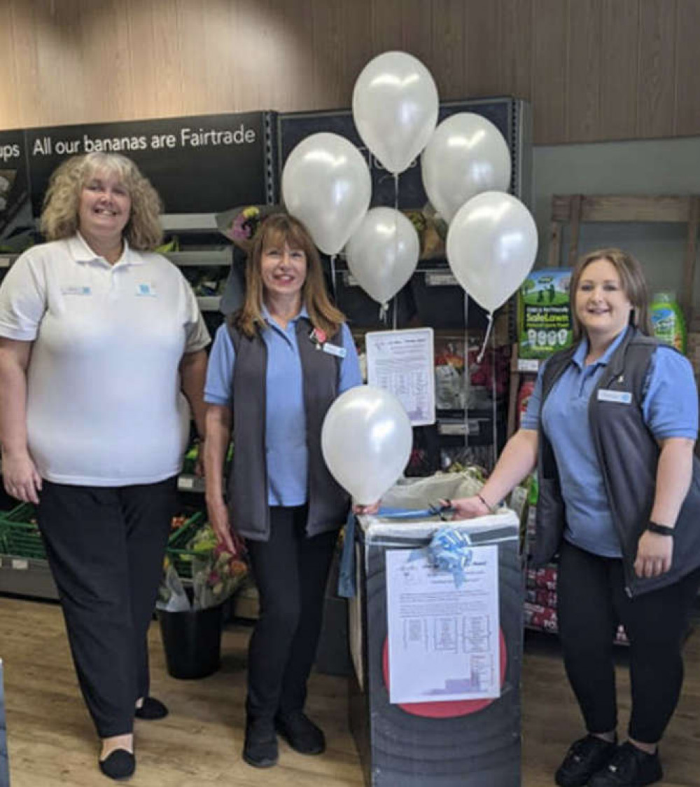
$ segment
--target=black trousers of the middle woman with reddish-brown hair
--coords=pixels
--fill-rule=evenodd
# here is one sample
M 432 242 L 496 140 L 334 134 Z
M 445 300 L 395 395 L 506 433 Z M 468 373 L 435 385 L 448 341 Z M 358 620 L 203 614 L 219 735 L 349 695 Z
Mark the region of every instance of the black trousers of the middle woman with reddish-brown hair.
M 246 541 L 260 593 L 248 652 L 246 711 L 252 719 L 304 708 L 338 534 L 307 538 L 306 506 L 273 506 L 270 514 L 270 540 Z

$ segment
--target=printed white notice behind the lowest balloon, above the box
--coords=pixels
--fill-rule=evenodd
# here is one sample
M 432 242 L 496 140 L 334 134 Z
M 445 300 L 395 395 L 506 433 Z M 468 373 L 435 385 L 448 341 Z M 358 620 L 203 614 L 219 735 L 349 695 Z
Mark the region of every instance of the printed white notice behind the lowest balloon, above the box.
M 433 329 L 365 334 L 367 383 L 393 393 L 414 427 L 435 423 Z

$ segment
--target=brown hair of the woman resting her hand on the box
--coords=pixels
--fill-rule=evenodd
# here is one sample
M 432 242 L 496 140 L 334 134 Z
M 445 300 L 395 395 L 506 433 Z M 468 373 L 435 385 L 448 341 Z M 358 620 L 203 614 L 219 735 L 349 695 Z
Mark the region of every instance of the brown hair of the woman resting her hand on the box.
M 608 260 L 617 271 L 622 283 L 622 290 L 632 304 L 632 311 L 629 313 L 629 324 L 634 325 L 643 334 L 652 334 L 651 320 L 649 317 L 649 288 L 647 280 L 639 261 L 632 254 L 622 249 L 596 249 L 580 257 L 571 274 L 569 284 L 569 300 L 571 302 L 571 319 L 573 321 L 573 338 L 578 340 L 584 331 L 576 314 L 576 293 L 579 287 L 581 276 L 591 262 L 596 260 Z

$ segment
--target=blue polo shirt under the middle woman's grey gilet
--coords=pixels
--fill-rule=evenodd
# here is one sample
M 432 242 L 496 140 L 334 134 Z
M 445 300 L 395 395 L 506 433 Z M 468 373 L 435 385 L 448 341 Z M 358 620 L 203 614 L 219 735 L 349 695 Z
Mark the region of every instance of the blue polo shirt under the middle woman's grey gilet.
M 267 402 L 265 403 L 265 449 L 267 452 L 267 502 L 270 505 L 302 505 L 307 501 L 308 450 L 304 382 L 297 344 L 297 321 L 308 317 L 306 309 L 290 320 L 286 329 L 263 308 L 267 327 Z M 342 326 L 345 357 L 341 359 L 338 393 L 362 384 L 355 342 Z M 204 401 L 231 405 L 236 353 L 226 325 L 219 327 L 209 355 Z

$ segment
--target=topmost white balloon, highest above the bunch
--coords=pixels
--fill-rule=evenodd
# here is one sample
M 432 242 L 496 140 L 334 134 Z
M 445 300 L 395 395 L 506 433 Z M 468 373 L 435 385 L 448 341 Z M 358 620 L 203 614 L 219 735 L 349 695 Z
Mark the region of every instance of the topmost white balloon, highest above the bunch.
M 363 142 L 383 167 L 403 172 L 437 124 L 437 87 L 425 65 L 405 52 L 385 52 L 360 72 L 352 116 Z

